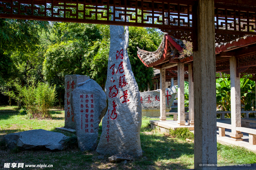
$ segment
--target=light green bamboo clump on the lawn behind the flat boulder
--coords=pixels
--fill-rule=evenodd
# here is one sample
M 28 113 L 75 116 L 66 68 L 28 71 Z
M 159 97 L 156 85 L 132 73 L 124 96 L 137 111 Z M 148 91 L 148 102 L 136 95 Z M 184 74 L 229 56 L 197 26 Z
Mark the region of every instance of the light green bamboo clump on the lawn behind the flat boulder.
M 31 85 L 27 87 L 14 82 L 16 91 L 4 91 L 5 95 L 10 96 L 13 99 L 19 100 L 26 107 L 28 118 L 50 118 L 49 113 L 50 106 L 52 106 L 56 94 L 55 86 L 51 87 L 47 83 L 39 82 L 36 86 L 35 81 L 31 82 Z M 22 109 L 20 112 L 23 112 Z

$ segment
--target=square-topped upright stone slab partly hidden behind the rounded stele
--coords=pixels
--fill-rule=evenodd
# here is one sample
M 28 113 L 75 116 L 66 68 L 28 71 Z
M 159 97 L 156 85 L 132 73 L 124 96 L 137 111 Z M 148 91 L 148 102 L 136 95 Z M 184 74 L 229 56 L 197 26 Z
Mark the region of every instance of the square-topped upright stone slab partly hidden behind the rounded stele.
M 74 114 L 70 103 L 70 92 L 72 92 L 78 83 L 90 79 L 86 75 L 65 75 L 65 128 L 75 129 Z

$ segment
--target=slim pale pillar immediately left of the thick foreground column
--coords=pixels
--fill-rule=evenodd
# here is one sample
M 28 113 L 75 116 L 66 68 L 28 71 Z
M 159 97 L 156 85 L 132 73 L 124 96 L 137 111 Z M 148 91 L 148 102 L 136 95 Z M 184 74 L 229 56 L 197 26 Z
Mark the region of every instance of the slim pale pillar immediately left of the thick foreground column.
M 188 64 L 188 125 L 194 125 L 194 82 L 192 64 Z

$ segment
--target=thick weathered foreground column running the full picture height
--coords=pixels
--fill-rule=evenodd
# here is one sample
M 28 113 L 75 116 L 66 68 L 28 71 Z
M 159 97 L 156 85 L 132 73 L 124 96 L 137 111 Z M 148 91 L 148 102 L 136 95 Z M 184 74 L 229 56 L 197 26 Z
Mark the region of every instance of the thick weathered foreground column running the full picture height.
M 217 163 L 214 0 L 198 0 L 198 50 L 194 51 L 194 168 Z

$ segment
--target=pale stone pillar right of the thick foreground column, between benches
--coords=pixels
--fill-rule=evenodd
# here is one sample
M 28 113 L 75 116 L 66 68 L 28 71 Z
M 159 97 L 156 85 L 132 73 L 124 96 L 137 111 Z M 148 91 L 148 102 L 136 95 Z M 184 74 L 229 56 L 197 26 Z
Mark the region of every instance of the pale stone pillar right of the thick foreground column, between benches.
M 236 127 L 241 127 L 241 92 L 240 92 L 240 74 L 237 77 L 236 57 L 230 57 L 230 98 L 231 98 L 231 133 L 230 137 L 235 140 L 243 140 L 243 134 L 236 131 Z

